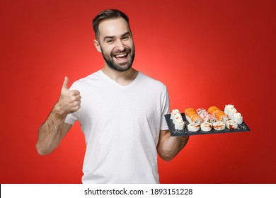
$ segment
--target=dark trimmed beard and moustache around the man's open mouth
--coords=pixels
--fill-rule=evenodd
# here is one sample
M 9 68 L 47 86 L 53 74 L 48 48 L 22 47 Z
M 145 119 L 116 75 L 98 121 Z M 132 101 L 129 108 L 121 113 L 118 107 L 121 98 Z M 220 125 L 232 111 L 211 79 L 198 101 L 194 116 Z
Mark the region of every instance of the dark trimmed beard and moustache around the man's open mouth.
M 108 66 L 111 69 L 115 69 L 116 71 L 127 71 L 132 67 L 132 64 L 134 62 L 134 57 L 135 57 L 134 46 L 132 50 L 130 49 L 130 47 L 125 47 L 125 49 L 122 51 L 113 50 L 110 54 L 105 53 L 103 51 L 103 48 L 100 47 L 100 49 L 102 50 L 103 59 L 105 59 L 105 62 L 108 64 Z M 116 64 L 113 60 L 113 56 L 114 54 L 119 54 L 119 53 L 127 53 L 127 56 L 130 56 L 130 60 L 127 62 Z

